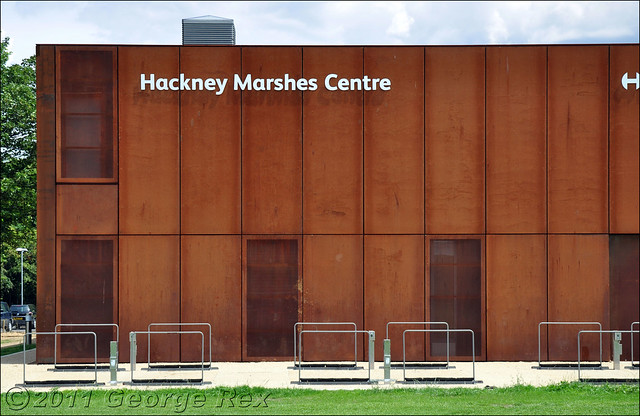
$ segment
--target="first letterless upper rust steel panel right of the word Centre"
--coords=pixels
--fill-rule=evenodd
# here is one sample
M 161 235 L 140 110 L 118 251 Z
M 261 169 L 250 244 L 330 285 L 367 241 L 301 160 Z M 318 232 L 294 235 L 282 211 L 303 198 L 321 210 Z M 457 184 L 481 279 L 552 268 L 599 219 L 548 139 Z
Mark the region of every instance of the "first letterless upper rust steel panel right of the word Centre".
M 485 231 L 484 50 L 425 52 L 428 234 Z

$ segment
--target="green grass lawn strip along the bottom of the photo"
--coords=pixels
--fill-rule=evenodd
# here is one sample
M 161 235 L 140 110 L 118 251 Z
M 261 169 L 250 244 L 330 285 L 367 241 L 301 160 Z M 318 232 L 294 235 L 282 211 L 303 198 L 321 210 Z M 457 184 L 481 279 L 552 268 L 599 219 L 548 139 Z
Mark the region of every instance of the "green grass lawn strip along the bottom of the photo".
M 637 415 L 638 385 L 311 390 L 216 387 L 51 390 L 16 387 L 2 414 L 527 414 Z

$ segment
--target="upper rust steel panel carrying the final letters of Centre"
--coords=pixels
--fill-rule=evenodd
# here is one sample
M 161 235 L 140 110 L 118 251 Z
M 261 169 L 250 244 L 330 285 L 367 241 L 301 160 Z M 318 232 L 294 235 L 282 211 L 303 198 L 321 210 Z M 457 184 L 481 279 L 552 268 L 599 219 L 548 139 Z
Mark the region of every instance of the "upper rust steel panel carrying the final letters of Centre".
M 394 80 L 365 92 L 365 233 L 423 233 L 424 49 L 365 48 L 364 71 Z

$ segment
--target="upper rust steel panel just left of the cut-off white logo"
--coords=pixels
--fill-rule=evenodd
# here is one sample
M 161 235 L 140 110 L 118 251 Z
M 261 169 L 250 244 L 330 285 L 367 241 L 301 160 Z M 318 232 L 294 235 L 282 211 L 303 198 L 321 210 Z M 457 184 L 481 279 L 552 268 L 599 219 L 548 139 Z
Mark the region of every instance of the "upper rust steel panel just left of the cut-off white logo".
M 549 232 L 606 233 L 606 46 L 549 47 Z

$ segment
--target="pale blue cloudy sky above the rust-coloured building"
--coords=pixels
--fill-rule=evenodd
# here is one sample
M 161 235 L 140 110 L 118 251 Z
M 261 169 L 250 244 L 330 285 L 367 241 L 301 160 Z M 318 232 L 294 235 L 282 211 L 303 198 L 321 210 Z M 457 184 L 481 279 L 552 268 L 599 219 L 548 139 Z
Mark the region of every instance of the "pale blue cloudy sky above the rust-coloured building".
M 2 1 L 17 63 L 35 45 L 182 43 L 182 19 L 234 20 L 237 45 L 639 42 L 637 1 Z

